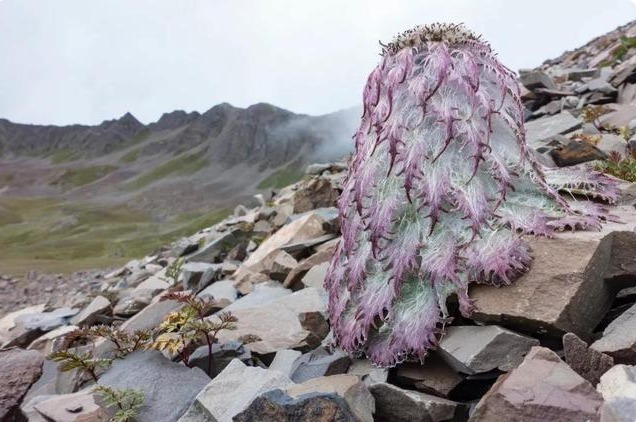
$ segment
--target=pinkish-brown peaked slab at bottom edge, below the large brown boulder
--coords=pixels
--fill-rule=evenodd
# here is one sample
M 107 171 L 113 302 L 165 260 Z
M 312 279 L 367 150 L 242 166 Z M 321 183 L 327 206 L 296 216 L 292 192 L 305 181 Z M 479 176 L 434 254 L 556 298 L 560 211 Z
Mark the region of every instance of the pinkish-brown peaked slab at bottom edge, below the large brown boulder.
M 550 349 L 533 347 L 477 403 L 471 422 L 598 421 L 603 399 Z

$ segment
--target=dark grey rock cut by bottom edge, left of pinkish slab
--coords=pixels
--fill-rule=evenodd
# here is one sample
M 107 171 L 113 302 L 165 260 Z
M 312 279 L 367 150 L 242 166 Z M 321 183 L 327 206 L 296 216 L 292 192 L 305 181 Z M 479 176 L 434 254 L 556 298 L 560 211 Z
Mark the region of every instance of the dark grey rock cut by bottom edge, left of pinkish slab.
M 369 390 L 375 399 L 377 422 L 441 422 L 463 420 L 465 415 L 464 406 L 459 403 L 391 384 L 373 384 Z

